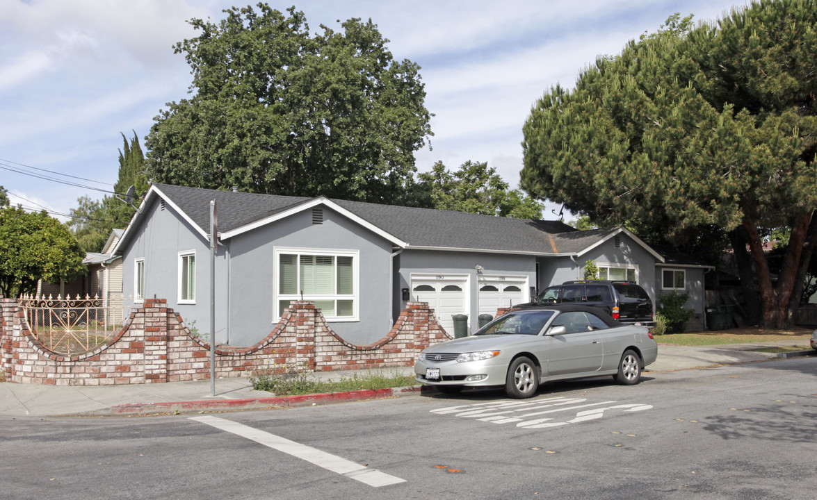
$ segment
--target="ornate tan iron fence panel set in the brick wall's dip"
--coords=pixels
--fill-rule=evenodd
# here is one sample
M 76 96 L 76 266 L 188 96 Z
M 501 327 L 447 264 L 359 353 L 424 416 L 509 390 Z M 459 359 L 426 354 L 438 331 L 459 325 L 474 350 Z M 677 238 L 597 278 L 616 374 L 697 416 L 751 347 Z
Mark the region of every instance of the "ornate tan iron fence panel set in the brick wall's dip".
M 98 296 L 81 299 L 23 296 L 20 308 L 42 347 L 65 356 L 93 351 L 116 333 L 113 314 Z

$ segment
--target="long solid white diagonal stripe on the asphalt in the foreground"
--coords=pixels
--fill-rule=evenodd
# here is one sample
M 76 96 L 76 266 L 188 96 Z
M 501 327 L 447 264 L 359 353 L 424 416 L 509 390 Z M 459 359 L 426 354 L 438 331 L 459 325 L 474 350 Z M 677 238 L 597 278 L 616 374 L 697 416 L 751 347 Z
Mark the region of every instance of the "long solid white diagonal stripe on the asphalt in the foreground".
M 380 486 L 396 485 L 404 483 L 406 480 L 400 479 L 396 476 L 390 476 L 385 472 L 377 471 L 362 466 L 359 463 L 351 462 L 346 458 L 340 458 L 333 454 L 328 454 L 311 446 L 301 445 L 295 441 L 288 440 L 281 436 L 275 436 L 269 432 L 259 431 L 252 427 L 243 425 L 243 423 L 232 422 L 225 418 L 213 417 L 212 415 L 203 415 L 201 417 L 190 417 L 190 420 L 195 420 L 200 423 L 206 423 L 209 426 L 216 427 L 222 431 L 231 432 L 236 436 L 245 437 L 248 440 L 253 440 L 261 445 L 269 446 L 272 449 L 277 449 L 285 454 L 290 454 L 293 457 L 301 458 L 306 462 L 314 463 L 318 467 L 323 467 L 328 471 L 337 472 L 342 476 L 350 479 L 360 481 L 366 485 L 378 488 Z

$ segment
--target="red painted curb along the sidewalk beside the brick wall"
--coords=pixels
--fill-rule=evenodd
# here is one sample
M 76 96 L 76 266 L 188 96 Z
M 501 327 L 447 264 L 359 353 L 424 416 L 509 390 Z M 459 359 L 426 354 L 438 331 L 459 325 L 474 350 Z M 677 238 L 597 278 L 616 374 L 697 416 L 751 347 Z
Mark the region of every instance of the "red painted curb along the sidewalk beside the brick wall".
M 230 409 L 251 409 L 266 407 L 290 408 L 294 406 L 325 405 L 342 401 L 373 400 L 383 397 L 408 395 L 420 392 L 420 387 L 397 387 L 395 389 L 364 389 L 349 392 L 329 392 L 326 394 L 308 394 L 306 396 L 281 397 L 253 397 L 235 400 L 197 400 L 172 401 L 163 403 L 127 403 L 114 405 L 110 413 L 114 415 L 126 414 L 158 414 L 158 413 L 189 413 L 191 411 L 215 411 Z

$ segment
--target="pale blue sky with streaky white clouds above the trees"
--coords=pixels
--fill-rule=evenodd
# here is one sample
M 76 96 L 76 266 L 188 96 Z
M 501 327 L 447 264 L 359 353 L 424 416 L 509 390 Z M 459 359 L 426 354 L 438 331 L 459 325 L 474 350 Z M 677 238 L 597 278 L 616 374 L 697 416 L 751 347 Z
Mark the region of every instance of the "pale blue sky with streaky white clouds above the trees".
M 248 3 L 248 2 L 247 2 Z M 290 2 L 268 2 L 284 11 Z M 313 31 L 371 18 L 397 60 L 422 67 L 431 149 L 442 160 L 489 162 L 511 185 L 522 125 L 551 86 L 572 87 L 596 55 L 617 54 L 673 12 L 715 20 L 743 0 L 301 0 Z M 172 45 L 185 21 L 222 18 L 235 0 L 0 1 L 0 185 L 11 201 L 60 219 L 117 179 L 120 133 L 141 144 L 164 104 L 181 100 L 190 68 Z M 59 181 L 59 182 L 57 182 Z M 546 216 L 555 218 L 548 206 Z

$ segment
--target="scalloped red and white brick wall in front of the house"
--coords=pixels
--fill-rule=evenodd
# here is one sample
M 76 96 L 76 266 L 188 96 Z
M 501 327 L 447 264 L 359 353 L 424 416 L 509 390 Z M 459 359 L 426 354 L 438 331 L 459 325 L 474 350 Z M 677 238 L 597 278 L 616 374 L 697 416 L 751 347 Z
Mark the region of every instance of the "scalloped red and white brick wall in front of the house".
M 408 366 L 417 352 L 449 338 L 427 303 L 409 302 L 385 337 L 355 346 L 333 332 L 315 303 L 293 301 L 255 346 L 217 346 L 216 374 Z M 113 385 L 209 378 L 209 349 L 165 299 L 145 299 L 108 343 L 80 356 L 63 356 L 38 343 L 16 300 L 0 299 L 0 373 L 11 382 Z

